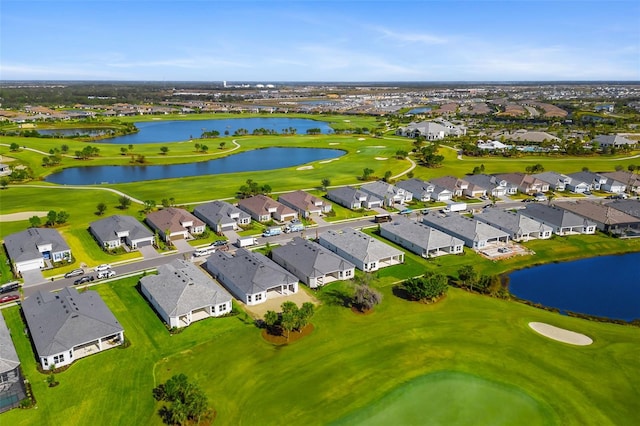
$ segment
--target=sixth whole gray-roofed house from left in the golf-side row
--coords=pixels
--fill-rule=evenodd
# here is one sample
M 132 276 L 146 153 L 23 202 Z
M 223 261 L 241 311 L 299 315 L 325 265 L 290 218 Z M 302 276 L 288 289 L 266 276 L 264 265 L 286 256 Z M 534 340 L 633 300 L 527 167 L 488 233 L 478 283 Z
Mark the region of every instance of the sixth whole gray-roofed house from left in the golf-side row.
M 424 258 L 459 254 L 464 247 L 461 239 L 404 216 L 380 224 L 380 235 Z

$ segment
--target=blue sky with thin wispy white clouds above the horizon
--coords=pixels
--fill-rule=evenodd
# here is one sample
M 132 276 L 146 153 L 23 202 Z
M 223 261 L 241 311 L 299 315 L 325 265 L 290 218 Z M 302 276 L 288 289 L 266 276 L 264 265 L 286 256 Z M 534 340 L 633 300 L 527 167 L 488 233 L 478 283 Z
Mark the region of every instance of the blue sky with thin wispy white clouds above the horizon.
M 640 80 L 632 0 L 1 0 L 1 80 Z

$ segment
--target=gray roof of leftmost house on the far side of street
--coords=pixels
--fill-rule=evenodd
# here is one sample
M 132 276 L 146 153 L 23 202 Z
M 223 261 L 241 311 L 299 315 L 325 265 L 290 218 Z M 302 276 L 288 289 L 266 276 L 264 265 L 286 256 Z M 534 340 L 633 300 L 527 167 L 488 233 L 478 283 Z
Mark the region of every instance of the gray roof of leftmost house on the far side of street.
M 51 244 L 51 251 L 54 253 L 69 250 L 65 240 L 55 229 L 29 228 L 4 237 L 7 253 L 14 263 L 42 258 L 38 246 L 43 244 Z

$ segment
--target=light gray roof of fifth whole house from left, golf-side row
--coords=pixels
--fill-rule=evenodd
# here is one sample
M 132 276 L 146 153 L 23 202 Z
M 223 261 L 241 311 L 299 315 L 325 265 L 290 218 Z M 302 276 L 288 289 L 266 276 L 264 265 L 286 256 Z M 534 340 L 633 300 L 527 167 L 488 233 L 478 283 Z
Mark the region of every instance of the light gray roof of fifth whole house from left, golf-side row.
M 320 234 L 320 244 L 322 244 L 323 241 L 349 253 L 363 263 L 404 255 L 404 252 L 401 250 L 352 228 L 323 232 Z

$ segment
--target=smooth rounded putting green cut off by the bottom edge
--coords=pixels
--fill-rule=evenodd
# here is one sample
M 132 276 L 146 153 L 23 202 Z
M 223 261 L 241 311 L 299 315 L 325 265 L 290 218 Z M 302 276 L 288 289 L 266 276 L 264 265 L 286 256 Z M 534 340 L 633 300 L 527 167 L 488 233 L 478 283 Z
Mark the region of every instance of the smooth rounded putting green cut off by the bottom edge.
M 550 407 L 514 386 L 466 373 L 418 377 L 334 425 L 554 424 Z

